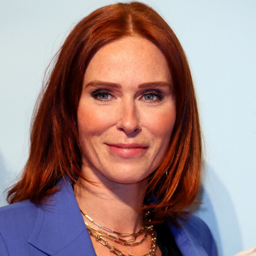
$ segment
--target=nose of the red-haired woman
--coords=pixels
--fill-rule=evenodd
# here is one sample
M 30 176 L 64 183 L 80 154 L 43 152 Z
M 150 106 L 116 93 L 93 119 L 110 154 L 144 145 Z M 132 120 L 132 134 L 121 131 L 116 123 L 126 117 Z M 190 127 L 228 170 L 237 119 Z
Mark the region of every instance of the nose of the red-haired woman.
M 139 111 L 137 108 L 138 107 L 135 105 L 135 102 L 132 100 L 129 102 L 122 102 L 119 112 L 119 121 L 117 122 L 117 129 L 123 130 L 128 135 L 141 130 L 138 119 Z

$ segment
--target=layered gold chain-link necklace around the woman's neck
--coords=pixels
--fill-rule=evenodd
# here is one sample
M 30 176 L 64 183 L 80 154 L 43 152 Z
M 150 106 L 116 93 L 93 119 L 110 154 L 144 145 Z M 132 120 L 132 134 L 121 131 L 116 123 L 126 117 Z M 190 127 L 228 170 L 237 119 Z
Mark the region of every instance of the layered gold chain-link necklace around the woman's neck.
M 120 233 L 117 231 L 110 230 L 97 222 L 95 222 L 92 218 L 90 218 L 87 214 L 85 214 L 81 209 L 81 213 L 89 220 L 90 222 L 94 223 L 94 225 L 98 226 L 100 229 L 104 230 L 97 230 L 94 227 L 90 226 L 86 221 L 84 221 L 85 225 L 87 226 L 87 230 L 89 231 L 90 235 L 92 237 L 95 237 L 96 241 L 101 243 L 102 245 L 109 248 L 110 252 L 113 252 L 114 254 L 118 256 L 132 256 L 130 254 L 123 254 L 119 249 L 117 249 L 115 246 L 109 245 L 108 240 L 113 241 L 120 245 L 126 245 L 126 246 L 136 246 L 143 243 L 143 241 L 146 240 L 148 234 L 151 235 L 151 248 L 149 252 L 143 256 L 151 256 L 154 254 L 156 249 L 156 233 L 154 231 L 153 225 L 146 225 L 141 228 L 137 233 Z M 146 216 L 149 216 L 149 212 L 146 213 Z M 150 222 L 150 220 L 149 220 Z M 115 235 L 118 235 L 119 237 L 116 237 Z M 142 238 L 139 240 L 139 237 Z M 121 237 L 121 238 L 120 238 Z M 124 239 L 125 237 L 132 237 L 130 239 Z M 139 240 L 139 241 L 138 241 Z

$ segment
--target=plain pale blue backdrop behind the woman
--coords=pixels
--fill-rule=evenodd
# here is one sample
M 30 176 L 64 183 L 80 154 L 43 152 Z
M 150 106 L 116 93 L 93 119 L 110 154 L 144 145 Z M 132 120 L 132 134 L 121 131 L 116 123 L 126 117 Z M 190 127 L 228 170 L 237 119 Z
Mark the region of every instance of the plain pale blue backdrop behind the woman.
M 233 255 L 256 245 L 256 1 L 145 2 L 187 53 L 205 143 L 197 214 L 219 256 Z M 0 1 L 0 192 L 26 162 L 30 117 L 49 61 L 79 19 L 112 3 Z

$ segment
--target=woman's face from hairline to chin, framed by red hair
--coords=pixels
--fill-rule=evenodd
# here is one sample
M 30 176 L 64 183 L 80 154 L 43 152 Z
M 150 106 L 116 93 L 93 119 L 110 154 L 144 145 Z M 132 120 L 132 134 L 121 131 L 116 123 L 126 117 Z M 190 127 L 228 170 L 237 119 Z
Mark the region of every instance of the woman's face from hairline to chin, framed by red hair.
M 84 75 L 77 116 L 86 177 L 145 180 L 165 157 L 176 118 L 162 52 L 139 37 L 99 49 Z

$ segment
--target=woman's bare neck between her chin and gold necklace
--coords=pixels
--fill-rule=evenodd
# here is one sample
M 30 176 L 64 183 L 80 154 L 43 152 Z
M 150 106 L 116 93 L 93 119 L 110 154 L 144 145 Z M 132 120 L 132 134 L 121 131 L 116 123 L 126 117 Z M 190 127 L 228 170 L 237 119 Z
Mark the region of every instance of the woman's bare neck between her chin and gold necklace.
M 95 222 L 120 233 L 136 233 L 143 225 L 139 207 L 143 204 L 147 182 L 90 183 L 80 178 L 74 191 L 79 207 Z

